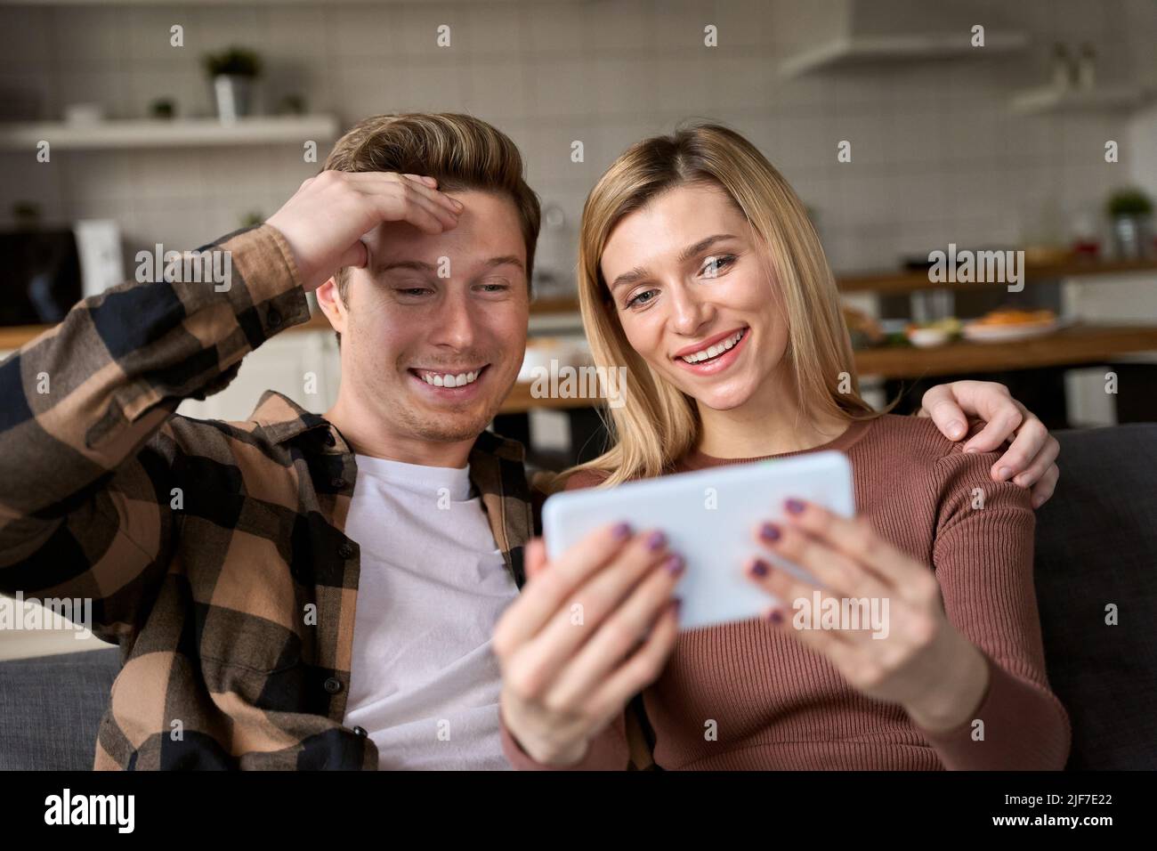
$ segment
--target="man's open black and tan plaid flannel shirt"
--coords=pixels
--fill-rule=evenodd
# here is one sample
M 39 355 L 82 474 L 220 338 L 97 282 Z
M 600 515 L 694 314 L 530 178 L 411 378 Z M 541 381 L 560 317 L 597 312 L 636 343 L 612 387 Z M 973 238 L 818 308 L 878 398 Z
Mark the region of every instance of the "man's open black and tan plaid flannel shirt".
M 212 248 L 231 252 L 228 291 L 121 284 L 0 364 L 0 592 L 91 599 L 94 632 L 120 645 L 97 769 L 376 769 L 342 725 L 353 450 L 274 393 L 245 423 L 174 413 L 309 317 L 277 229 Z M 485 432 L 470 454 L 518 587 L 535 523 L 522 456 Z

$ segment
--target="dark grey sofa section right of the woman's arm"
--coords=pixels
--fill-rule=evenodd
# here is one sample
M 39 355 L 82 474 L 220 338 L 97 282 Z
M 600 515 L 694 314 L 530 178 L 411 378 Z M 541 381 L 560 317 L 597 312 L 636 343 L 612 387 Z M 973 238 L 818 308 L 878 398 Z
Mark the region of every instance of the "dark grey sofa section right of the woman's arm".
M 1037 512 L 1048 680 L 1070 769 L 1157 769 L 1157 424 L 1057 432 L 1061 478 Z M 1118 624 L 1106 624 L 1106 607 Z

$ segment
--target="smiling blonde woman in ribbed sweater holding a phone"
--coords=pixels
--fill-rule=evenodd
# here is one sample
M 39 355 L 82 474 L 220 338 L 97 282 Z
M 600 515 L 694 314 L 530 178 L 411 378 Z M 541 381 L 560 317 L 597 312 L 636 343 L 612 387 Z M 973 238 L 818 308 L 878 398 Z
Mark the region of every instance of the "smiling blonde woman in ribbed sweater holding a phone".
M 580 250 L 595 360 L 629 377 L 613 446 L 566 486 L 841 450 L 856 519 L 789 500 L 784 521 L 767 506 L 752 536 L 808 567 L 824 599 L 887 600 L 890 623 L 883 639 L 803 629 L 789 602 L 678 633 L 683 565 L 661 530 L 603 529 L 553 564 L 535 542 L 529 587 L 494 643 L 511 763 L 1063 768 L 1068 717 L 1046 680 L 1032 584 L 1039 496 L 1026 487 L 1051 478 L 1052 491 L 1055 452 L 1001 480 L 996 453 L 874 411 L 804 207 L 734 131 L 699 125 L 628 149 L 587 200 Z M 734 570 L 782 601 L 819 590 L 765 559 Z M 631 683 L 650 683 L 647 753 L 628 732 L 640 729 Z

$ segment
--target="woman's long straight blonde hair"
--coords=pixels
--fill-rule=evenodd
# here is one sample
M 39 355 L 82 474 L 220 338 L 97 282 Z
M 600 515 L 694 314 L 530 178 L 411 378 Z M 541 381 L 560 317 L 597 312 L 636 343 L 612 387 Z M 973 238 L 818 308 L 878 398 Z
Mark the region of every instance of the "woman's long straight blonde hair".
M 768 273 L 779 281 L 787 309 L 784 358 L 793 369 L 801 413 L 846 420 L 883 413 L 860 395 L 835 279 L 799 198 L 758 148 L 734 130 L 695 124 L 633 145 L 587 198 L 578 303 L 595 365 L 627 368 L 626 387 L 620 388 L 625 398 L 621 406 L 609 409 L 611 448 L 546 483 L 550 490 L 580 470 L 605 474 L 603 486 L 658 476 L 698 441 L 694 399 L 631 347 L 599 270 L 607 237 L 624 217 L 675 186 L 694 183 L 722 188 L 766 248 Z

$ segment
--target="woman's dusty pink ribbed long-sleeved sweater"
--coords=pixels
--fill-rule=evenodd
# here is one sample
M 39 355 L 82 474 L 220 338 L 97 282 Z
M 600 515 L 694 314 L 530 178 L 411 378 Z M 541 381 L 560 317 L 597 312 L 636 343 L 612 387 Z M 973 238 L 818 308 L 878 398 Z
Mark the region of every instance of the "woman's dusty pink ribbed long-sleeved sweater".
M 945 439 L 931 420 L 885 415 L 854 423 L 805 452 L 846 453 L 857 511 L 935 570 L 949 619 L 988 661 L 988 690 L 970 721 L 943 733 L 922 731 L 900 706 L 860 695 L 789 636 L 743 621 L 680 633 L 663 674 L 643 692 L 656 764 L 669 770 L 1063 768 L 1069 722 L 1045 675 L 1029 493 L 992 480 L 997 454 L 966 455 L 963 443 Z M 692 453 L 679 470 L 752 460 Z M 568 490 L 597 480 L 575 476 Z M 983 508 L 972 507 L 977 487 Z M 974 738 L 971 719 L 983 721 L 982 740 Z M 715 740 L 705 735 L 710 721 Z M 618 719 L 572 768 L 626 768 L 625 728 Z M 503 749 L 515 768 L 546 768 L 504 726 Z

